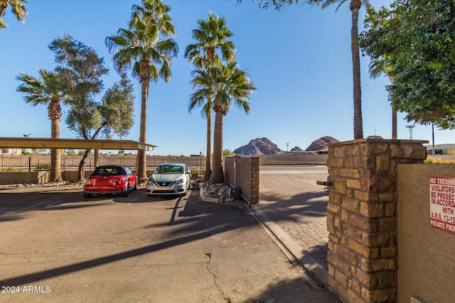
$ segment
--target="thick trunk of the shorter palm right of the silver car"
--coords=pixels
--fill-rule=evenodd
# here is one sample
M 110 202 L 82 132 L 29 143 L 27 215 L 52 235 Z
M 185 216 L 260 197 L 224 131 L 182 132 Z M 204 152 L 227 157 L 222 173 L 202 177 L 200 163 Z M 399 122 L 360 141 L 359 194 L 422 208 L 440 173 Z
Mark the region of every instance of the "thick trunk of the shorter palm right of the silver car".
M 210 183 L 225 182 L 223 175 L 223 111 L 215 106 L 215 129 L 213 130 L 213 171 Z

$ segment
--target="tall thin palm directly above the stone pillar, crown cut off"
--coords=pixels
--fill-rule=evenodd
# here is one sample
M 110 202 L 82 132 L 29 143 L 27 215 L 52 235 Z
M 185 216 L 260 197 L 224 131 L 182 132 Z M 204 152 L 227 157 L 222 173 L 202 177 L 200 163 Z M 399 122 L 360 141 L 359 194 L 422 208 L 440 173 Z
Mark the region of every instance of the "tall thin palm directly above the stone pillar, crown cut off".
M 331 4 L 338 4 L 336 11 L 341 4 L 348 0 L 323 0 L 322 9 L 326 9 Z M 319 0 L 316 0 L 319 2 Z M 368 0 L 350 0 L 349 9 L 352 12 L 352 26 L 350 29 L 350 50 L 353 60 L 353 82 L 354 82 L 354 139 L 363 138 L 363 121 L 362 121 L 362 90 L 360 87 L 360 51 L 358 48 L 358 12 L 362 7 L 370 6 Z

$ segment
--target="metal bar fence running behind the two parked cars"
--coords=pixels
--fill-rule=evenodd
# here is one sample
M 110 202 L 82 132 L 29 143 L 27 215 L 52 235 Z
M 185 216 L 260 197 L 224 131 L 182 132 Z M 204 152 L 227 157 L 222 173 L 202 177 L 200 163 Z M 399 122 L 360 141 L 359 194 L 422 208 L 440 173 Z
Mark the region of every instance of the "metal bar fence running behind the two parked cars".
M 63 155 L 60 158 L 60 166 L 63 170 L 77 170 L 82 156 L 67 156 Z M 162 163 L 178 162 L 185 163 L 193 170 L 200 170 L 200 167 L 205 164 L 205 157 L 162 157 L 162 156 L 147 156 L 147 169 L 153 169 Z M 136 156 L 102 156 L 98 159 L 99 165 L 124 165 L 132 169 L 137 166 Z M 87 158 L 85 161 L 85 170 L 93 170 L 95 160 L 93 157 Z M 49 170 L 50 155 L 0 155 L 0 171 L 1 172 L 31 172 L 37 170 Z

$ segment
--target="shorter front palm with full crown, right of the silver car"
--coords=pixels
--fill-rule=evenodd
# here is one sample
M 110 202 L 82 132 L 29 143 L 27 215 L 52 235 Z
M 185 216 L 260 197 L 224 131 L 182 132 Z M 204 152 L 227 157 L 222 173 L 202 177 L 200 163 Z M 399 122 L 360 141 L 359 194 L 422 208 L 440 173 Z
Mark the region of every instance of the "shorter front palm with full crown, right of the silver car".
M 196 83 L 196 92 L 193 96 L 213 96 L 213 111 L 215 111 L 215 129 L 213 131 L 213 171 L 211 183 L 223 183 L 223 116 L 225 116 L 232 102 L 249 114 L 250 104 L 245 100 L 250 97 L 256 88 L 248 79 L 245 71 L 239 70 L 237 62 L 227 65 L 217 64 L 208 70 L 193 72 Z M 196 98 L 197 99 L 197 98 Z

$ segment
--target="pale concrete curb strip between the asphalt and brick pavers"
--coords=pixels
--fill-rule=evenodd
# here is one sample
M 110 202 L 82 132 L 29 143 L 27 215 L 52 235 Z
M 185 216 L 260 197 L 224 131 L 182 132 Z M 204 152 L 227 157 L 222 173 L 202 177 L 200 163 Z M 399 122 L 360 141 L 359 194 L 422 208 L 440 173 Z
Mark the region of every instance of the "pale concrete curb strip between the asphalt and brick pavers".
M 251 208 L 250 211 L 269 229 L 273 236 L 276 237 L 277 241 L 282 244 L 280 248 L 287 250 L 284 253 L 288 255 L 288 257 L 290 254 L 292 258 L 294 258 L 294 260 L 296 260 L 299 265 L 316 280 L 320 287 L 328 287 L 328 271 L 323 268 L 318 261 L 314 260 L 311 255 L 306 253 L 296 241 L 284 232 L 274 221 L 269 219 L 261 210 Z

